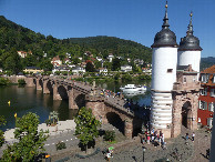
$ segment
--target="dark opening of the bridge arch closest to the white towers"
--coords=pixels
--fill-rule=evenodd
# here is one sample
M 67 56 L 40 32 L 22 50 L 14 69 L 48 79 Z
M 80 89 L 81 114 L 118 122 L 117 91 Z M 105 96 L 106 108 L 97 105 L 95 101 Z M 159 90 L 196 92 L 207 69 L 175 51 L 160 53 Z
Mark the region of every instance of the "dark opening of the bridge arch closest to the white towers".
M 125 123 L 117 113 L 108 112 L 106 113 L 106 120 L 110 124 L 115 126 L 120 132 L 122 132 L 123 134 L 125 133 L 124 132 Z

